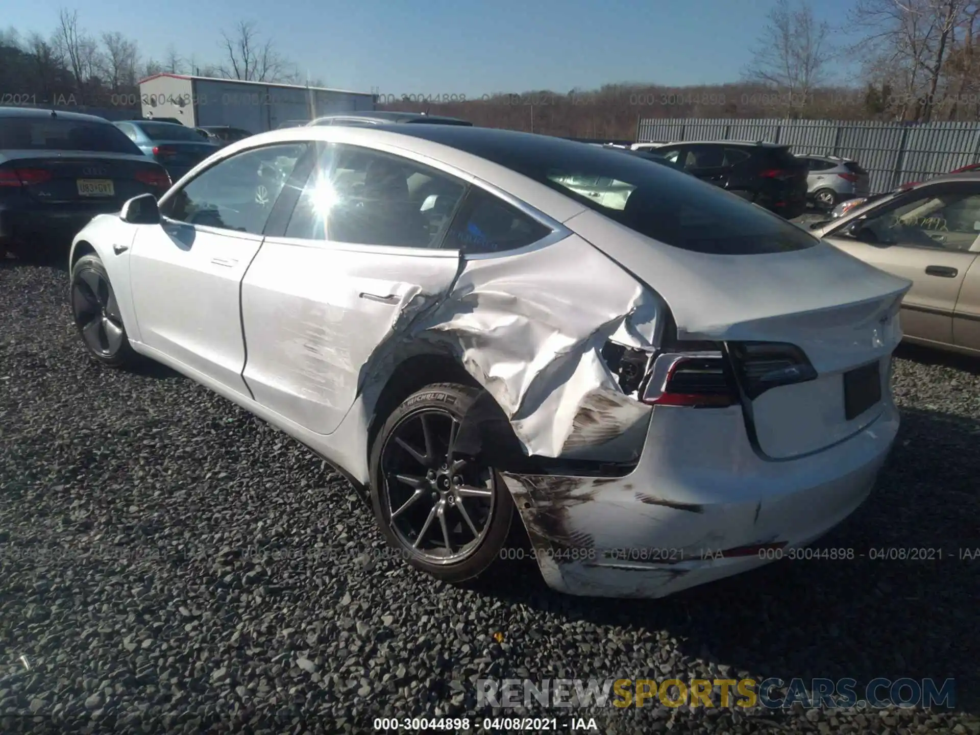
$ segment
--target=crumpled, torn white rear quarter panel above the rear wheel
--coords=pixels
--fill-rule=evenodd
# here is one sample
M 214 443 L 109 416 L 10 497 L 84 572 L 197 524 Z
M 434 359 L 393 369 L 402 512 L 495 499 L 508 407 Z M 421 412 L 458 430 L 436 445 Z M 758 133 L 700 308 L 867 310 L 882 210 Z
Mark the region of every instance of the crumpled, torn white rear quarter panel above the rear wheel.
M 649 406 L 619 389 L 601 350 L 608 340 L 655 350 L 665 306 L 576 235 L 466 261 L 444 298 L 404 303 L 368 370 L 420 343 L 440 345 L 494 397 L 528 455 L 588 457 L 649 417 Z

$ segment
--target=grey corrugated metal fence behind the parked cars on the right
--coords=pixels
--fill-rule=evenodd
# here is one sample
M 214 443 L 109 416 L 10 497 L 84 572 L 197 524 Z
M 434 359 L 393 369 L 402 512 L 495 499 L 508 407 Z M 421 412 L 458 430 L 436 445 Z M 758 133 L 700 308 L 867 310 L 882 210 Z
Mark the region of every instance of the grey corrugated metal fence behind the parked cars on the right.
M 872 123 L 834 120 L 640 120 L 639 142 L 764 140 L 793 153 L 853 158 L 871 191 L 891 191 L 980 161 L 980 123 Z

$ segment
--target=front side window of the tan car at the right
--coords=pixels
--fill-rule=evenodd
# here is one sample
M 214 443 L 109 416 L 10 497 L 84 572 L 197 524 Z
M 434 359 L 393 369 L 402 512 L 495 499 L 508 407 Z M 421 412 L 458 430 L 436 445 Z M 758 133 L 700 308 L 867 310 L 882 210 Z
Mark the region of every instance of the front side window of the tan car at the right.
M 980 194 L 919 196 L 868 217 L 848 232 L 874 245 L 968 252 L 980 235 Z

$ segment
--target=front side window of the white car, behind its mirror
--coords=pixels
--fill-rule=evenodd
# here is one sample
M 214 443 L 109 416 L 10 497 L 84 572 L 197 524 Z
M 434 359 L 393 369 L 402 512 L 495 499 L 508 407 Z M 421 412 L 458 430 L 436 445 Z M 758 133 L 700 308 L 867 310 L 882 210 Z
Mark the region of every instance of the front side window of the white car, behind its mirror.
M 264 146 L 199 173 L 163 206 L 172 220 L 262 234 L 272 205 L 307 143 Z

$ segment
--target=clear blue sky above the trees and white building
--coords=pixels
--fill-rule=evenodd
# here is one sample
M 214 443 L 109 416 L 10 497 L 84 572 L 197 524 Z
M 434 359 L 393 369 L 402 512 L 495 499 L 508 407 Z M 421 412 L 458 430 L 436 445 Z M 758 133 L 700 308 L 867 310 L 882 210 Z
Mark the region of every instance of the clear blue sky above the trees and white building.
M 831 24 L 854 0 L 819 0 Z M 383 94 L 466 94 L 616 81 L 735 81 L 751 61 L 774 0 L 86 0 L 80 25 L 118 30 L 144 55 L 169 44 L 220 61 L 221 28 L 255 21 L 327 86 Z M 0 23 L 44 34 L 56 2 L 9 2 Z M 847 70 L 841 73 L 846 75 Z

